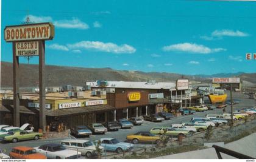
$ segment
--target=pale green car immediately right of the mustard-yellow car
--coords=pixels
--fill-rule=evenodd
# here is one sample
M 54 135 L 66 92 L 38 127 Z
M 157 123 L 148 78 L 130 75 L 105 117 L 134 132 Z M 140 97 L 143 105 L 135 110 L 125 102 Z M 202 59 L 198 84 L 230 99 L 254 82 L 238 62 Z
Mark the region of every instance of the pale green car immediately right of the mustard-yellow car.
M 172 127 L 153 127 L 150 132 L 154 135 L 157 135 L 159 133 L 163 133 L 164 130 L 167 129 L 166 135 L 172 135 L 172 136 L 179 136 L 179 135 L 183 135 L 183 136 L 187 136 L 189 135 L 189 131 L 188 130 L 176 130 L 173 129 Z

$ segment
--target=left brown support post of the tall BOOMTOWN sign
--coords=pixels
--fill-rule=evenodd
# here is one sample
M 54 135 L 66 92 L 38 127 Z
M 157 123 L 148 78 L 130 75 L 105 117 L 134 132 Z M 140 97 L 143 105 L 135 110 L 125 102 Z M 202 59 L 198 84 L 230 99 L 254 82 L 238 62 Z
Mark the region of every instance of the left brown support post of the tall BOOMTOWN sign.
M 20 77 L 19 57 L 16 56 L 15 42 L 12 43 L 13 52 L 13 125 L 20 127 Z

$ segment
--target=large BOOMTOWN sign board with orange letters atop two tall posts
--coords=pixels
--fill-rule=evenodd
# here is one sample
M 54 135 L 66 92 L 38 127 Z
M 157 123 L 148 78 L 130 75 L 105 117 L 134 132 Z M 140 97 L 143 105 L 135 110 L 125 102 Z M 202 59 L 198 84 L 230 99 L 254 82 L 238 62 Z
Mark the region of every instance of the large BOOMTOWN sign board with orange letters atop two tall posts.
M 13 25 L 4 29 L 4 40 L 7 42 L 49 40 L 52 38 L 54 38 L 54 25 L 50 22 Z

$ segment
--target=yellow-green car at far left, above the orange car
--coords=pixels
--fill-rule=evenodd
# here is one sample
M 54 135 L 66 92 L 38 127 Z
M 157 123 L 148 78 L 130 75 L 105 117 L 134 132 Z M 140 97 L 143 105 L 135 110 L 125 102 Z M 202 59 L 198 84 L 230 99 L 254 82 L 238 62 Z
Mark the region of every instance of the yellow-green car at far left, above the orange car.
M 38 140 L 42 135 L 43 133 L 27 132 L 26 130 L 21 130 L 19 132 L 9 132 L 3 140 L 12 141 L 12 143 L 16 143 L 17 141 L 23 140 Z

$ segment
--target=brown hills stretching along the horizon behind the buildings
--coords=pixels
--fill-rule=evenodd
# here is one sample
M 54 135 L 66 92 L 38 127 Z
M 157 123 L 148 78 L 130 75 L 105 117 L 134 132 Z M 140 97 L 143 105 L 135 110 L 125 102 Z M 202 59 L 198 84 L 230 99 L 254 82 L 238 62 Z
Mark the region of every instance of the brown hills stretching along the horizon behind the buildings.
M 190 81 L 210 83 L 212 77 L 239 76 L 241 79 L 256 84 L 256 73 L 220 73 L 216 75 L 181 75 L 178 73 L 141 72 L 113 70 L 110 68 L 82 68 L 66 66 L 46 66 L 46 86 L 84 86 L 86 81 L 149 81 L 170 82 L 187 78 Z M 20 64 L 20 87 L 38 87 L 38 65 Z M 1 87 L 12 87 L 12 62 L 1 62 Z

